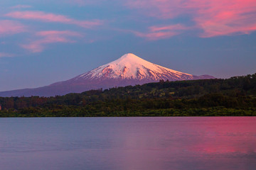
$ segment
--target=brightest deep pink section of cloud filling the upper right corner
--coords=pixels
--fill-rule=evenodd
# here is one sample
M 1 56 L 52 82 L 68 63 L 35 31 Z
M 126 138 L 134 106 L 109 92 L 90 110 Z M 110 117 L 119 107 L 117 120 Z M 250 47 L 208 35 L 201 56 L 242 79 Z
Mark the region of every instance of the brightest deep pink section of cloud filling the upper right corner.
M 256 3 L 252 0 L 193 1 L 197 8 L 193 20 L 203 29 L 201 37 L 248 34 L 256 30 Z M 191 4 L 192 6 L 192 4 Z

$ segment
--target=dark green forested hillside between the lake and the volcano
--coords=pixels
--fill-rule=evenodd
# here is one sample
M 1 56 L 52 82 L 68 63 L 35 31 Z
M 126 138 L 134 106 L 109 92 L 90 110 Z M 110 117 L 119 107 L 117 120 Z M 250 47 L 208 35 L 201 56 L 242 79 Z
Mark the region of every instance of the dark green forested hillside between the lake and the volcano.
M 256 74 L 54 97 L 0 97 L 0 117 L 256 116 Z

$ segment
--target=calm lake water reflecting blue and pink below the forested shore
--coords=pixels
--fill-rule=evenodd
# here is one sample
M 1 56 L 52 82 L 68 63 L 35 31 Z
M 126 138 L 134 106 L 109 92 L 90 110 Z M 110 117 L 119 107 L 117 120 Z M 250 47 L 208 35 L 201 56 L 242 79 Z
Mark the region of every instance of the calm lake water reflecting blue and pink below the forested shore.
M 0 169 L 256 169 L 256 118 L 1 118 Z

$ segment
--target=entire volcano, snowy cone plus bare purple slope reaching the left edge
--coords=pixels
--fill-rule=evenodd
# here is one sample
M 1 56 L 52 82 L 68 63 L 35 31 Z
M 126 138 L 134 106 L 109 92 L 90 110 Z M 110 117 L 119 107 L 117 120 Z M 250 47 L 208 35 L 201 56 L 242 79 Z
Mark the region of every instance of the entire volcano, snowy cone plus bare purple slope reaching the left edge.
M 80 93 L 90 89 L 107 89 L 114 86 L 127 86 L 156 82 L 191 79 L 214 79 L 208 75 L 201 77 L 147 62 L 132 53 L 123 55 L 118 60 L 92 69 L 67 81 L 60 81 L 36 89 L 21 89 L 0 92 L 0 96 L 55 96 L 68 93 Z

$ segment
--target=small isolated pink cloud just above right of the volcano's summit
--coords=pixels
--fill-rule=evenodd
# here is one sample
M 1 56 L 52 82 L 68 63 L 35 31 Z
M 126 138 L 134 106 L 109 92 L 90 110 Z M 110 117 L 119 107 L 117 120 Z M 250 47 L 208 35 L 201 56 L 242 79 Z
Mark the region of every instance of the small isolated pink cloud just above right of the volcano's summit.
M 169 26 L 151 26 L 149 27 L 148 33 L 142 33 L 138 31 L 130 31 L 135 35 L 146 38 L 148 40 L 161 40 L 170 38 L 174 35 L 178 35 L 182 33 L 182 30 L 186 30 L 185 26 L 181 24 L 169 25 Z

